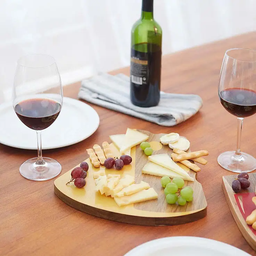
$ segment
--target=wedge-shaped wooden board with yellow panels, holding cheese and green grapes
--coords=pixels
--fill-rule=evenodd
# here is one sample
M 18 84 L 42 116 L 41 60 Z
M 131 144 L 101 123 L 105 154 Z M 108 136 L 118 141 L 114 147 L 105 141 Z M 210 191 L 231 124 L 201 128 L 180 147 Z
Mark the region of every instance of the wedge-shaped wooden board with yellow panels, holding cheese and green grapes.
M 154 150 L 152 155 L 167 153 L 170 156 L 172 149 L 170 149 L 168 145 L 163 146 L 159 142 L 160 137 L 164 134 L 152 134 L 148 131 L 142 130 L 138 131 L 149 135 L 147 141 Z M 118 138 L 120 137 L 117 137 L 116 139 Z M 102 142 L 100 141 L 98 142 L 98 144 L 101 143 Z M 115 156 L 120 156 L 120 150 L 114 143 L 110 144 L 110 148 L 114 152 Z M 157 192 L 157 199 L 119 207 L 112 197 L 101 195 L 99 191 L 96 192 L 93 173 L 98 172 L 100 168 L 105 167 L 101 166 L 100 168 L 94 168 L 89 158 L 85 160 L 89 164 L 85 187 L 79 189 L 76 188 L 72 183 L 66 185 L 66 183 L 71 179 L 72 168 L 72 170 L 69 170 L 55 180 L 55 194 L 66 204 L 81 210 L 82 212 L 108 220 L 130 224 L 147 226 L 176 225 L 193 222 L 206 216 L 207 203 L 203 188 L 196 180 L 196 172 L 189 170 L 188 167 L 179 163 L 179 166 L 183 168 L 183 170 L 185 170 L 190 177 L 195 179 L 195 181 L 185 181 L 185 186 L 188 185 L 193 188 L 194 199 L 192 202 L 187 202 L 187 204 L 184 206 L 179 206 L 177 204 L 170 205 L 165 201 L 164 188 L 160 183 L 161 177 L 142 174 L 142 168 L 144 165 L 149 163 L 149 161 L 143 150 L 141 150 L 140 145 L 131 148 L 131 150 L 128 149 L 125 152 L 127 152 L 127 154 L 131 154 L 132 163 L 130 165 L 124 165 L 123 169 L 120 171 L 115 170 L 115 168 L 106 169 L 106 175 L 120 174 L 121 178 L 125 175 L 131 175 L 135 178 L 136 184 L 141 183 L 141 181 L 146 182 L 150 185 L 150 188 L 153 188 Z M 80 163 L 77 166 L 79 165 Z M 143 191 L 141 192 L 143 193 Z

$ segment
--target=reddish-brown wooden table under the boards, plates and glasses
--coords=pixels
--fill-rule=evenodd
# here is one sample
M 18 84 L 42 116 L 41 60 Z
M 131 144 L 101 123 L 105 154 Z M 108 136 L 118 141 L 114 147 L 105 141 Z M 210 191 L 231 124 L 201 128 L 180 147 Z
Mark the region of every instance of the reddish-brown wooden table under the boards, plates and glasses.
M 56 150 L 44 150 L 62 166 L 62 173 L 82 162 L 85 148 L 108 140 L 109 134 L 130 128 L 153 133 L 178 132 L 191 142 L 192 150 L 207 149 L 208 164 L 198 174 L 208 202 L 208 214 L 197 222 L 167 227 L 122 224 L 90 216 L 59 200 L 53 181 L 35 182 L 23 178 L 19 165 L 36 151 L 0 147 L 0 255 L 93 255 L 122 256 L 146 241 L 168 236 L 198 236 L 216 239 L 256 255 L 242 237 L 224 197 L 221 177 L 232 174 L 217 163 L 217 156 L 236 147 L 237 121 L 221 106 L 218 77 L 228 48 L 256 48 L 256 32 L 239 35 L 163 57 L 162 90 L 199 94 L 204 107 L 188 121 L 162 127 L 140 119 L 93 106 L 100 116 L 98 130 L 80 143 Z M 129 68 L 112 72 L 129 74 Z M 64 95 L 77 98 L 80 83 L 66 86 Z M 245 119 L 242 150 L 256 157 L 255 116 Z M 36 136 L 35 136 L 36 139 Z

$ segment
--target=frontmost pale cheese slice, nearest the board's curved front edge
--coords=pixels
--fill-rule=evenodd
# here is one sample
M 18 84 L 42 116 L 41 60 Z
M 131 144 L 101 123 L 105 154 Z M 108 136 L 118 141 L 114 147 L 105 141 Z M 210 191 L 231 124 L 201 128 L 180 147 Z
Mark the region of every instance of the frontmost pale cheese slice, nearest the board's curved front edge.
M 130 205 L 130 204 L 135 204 L 135 203 L 156 199 L 157 197 L 158 197 L 157 192 L 153 188 L 149 188 L 149 189 L 141 190 L 129 196 L 114 197 L 114 200 L 117 203 L 117 205 L 120 207 L 124 205 Z

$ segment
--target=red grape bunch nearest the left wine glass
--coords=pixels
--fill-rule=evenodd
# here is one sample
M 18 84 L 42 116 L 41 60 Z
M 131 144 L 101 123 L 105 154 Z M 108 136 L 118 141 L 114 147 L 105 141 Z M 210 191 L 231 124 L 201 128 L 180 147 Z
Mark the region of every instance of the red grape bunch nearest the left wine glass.
M 74 185 L 77 188 L 83 188 L 86 184 L 85 178 L 87 176 L 88 169 L 89 169 L 88 163 L 82 162 L 80 164 L 80 167 L 75 167 L 72 170 L 71 180 L 69 182 L 67 182 L 67 184 L 69 184 L 70 182 L 74 182 Z

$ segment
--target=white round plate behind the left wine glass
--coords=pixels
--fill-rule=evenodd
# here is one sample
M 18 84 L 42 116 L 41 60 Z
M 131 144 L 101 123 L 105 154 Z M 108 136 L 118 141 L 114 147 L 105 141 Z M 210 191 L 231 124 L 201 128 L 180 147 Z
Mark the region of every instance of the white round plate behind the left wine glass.
M 56 121 L 42 130 L 42 149 L 69 146 L 91 136 L 99 126 L 99 115 L 88 104 L 63 98 Z M 0 105 L 0 143 L 22 149 L 37 149 L 36 131 L 23 124 L 12 103 Z

